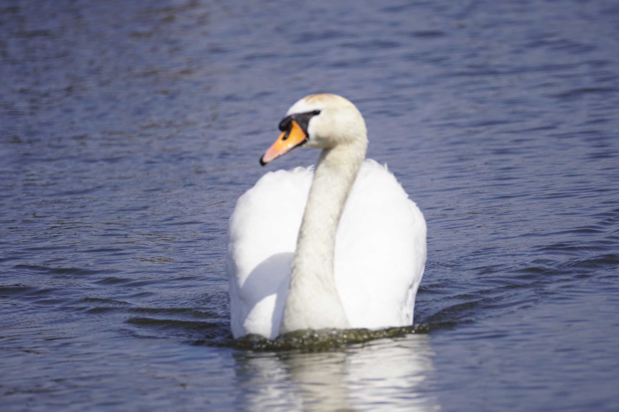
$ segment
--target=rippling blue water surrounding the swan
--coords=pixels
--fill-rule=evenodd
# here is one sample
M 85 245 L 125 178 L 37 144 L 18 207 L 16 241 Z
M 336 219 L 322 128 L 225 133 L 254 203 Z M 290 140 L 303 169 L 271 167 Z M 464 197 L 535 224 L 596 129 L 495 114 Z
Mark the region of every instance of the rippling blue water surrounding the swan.
M 618 42 L 614 1 L 2 2 L 2 410 L 618 410 Z M 415 333 L 232 343 L 227 218 L 318 91 L 425 213 Z

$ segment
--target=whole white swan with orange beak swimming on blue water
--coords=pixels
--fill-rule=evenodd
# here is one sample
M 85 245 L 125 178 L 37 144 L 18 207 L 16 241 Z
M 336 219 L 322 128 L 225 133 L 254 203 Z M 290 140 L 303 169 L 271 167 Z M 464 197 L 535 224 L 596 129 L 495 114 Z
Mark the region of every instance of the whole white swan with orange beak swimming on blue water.
M 363 160 L 357 107 L 309 95 L 279 128 L 261 164 L 301 145 L 322 151 L 316 170 L 267 173 L 236 203 L 226 262 L 234 337 L 412 324 L 425 219 L 386 167 Z

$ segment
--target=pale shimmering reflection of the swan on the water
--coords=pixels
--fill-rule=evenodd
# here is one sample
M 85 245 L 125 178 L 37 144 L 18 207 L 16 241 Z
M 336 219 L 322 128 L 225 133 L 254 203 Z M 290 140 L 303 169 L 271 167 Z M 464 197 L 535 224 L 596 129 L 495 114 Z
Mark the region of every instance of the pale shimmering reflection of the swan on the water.
M 243 409 L 437 411 L 428 335 L 322 353 L 238 353 Z

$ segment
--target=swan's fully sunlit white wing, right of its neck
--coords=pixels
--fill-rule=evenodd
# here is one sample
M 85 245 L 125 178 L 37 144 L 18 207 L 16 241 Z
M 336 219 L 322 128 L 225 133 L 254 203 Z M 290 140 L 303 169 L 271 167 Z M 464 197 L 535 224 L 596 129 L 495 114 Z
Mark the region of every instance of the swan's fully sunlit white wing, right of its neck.
M 335 241 L 335 284 L 350 325 L 412 324 L 425 260 L 422 212 L 386 166 L 366 159 Z

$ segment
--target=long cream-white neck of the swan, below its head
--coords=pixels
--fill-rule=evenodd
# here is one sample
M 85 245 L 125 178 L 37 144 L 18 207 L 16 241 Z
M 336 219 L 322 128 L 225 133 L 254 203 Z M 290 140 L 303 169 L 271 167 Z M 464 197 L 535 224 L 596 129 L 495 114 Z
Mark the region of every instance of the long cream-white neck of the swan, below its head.
M 365 137 L 365 136 L 364 136 Z M 335 235 L 367 140 L 324 149 L 299 230 L 280 333 L 350 327 L 335 288 Z

